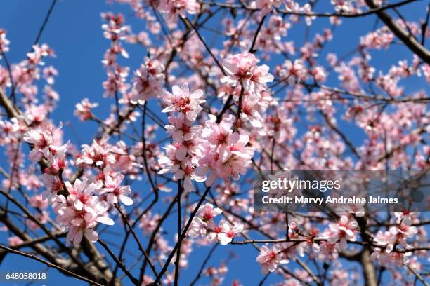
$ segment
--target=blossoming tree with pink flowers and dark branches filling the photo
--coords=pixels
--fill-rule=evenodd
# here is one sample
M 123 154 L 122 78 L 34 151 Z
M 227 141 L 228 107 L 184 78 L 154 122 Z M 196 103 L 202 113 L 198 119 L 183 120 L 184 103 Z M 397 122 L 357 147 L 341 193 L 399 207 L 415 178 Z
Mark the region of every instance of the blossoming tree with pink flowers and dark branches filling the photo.
M 79 146 L 50 118 L 56 54 L 39 39 L 56 2 L 21 62 L 0 29 L 0 261 L 18 254 L 91 285 L 242 285 L 228 260 L 247 247 L 254 285 L 429 284 L 425 212 L 256 212 L 249 186 L 262 170 L 429 170 L 428 88 L 406 87 L 430 83 L 426 3 L 115 0 L 142 25 L 101 13 L 104 93 L 74 113 L 99 130 Z M 350 52 L 325 53 L 353 18 L 376 24 L 345 40 Z M 134 71 L 131 45 L 146 55 Z

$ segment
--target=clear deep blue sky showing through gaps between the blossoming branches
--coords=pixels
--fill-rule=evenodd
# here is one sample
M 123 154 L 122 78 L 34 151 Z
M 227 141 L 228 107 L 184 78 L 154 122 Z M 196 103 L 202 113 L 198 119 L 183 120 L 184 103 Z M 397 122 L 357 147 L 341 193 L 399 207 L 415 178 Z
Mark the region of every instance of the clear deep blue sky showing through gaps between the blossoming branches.
M 328 1 L 327 1 L 328 2 Z M 7 30 L 7 38 L 11 41 L 11 51 L 7 53 L 10 62 L 19 62 L 25 58 L 25 54 L 30 51 L 31 45 L 39 31 L 39 27 L 48 11 L 51 1 L 2 1 L 0 10 L 0 27 Z M 318 4 L 317 10 L 323 11 L 325 4 Z M 403 11 L 406 18 L 424 18 L 425 11 L 417 9 L 417 5 L 412 5 L 407 9 L 400 9 Z M 131 25 L 134 32 L 139 28 L 144 27 L 143 23 L 133 18 L 129 6 L 119 4 L 110 5 L 105 1 L 88 1 L 88 0 L 63 0 L 58 1 L 58 4 L 53 10 L 50 21 L 41 37 L 41 43 L 48 43 L 51 48 L 56 52 L 57 57 L 53 60 L 47 60 L 47 64 L 53 64 L 58 69 L 59 76 L 56 78 L 54 88 L 60 94 L 60 102 L 56 111 L 53 113 L 53 121 L 65 123 L 65 139 L 71 139 L 72 142 L 86 143 L 91 140 L 94 132 L 96 131 L 95 123 L 80 123 L 77 118 L 73 116 L 74 104 L 82 100 L 84 97 L 89 97 L 91 102 L 100 102 L 100 108 L 96 109 L 96 114 L 100 118 L 104 118 L 111 104 L 112 99 L 103 99 L 103 88 L 101 83 L 105 80 L 105 70 L 101 64 L 103 53 L 110 45 L 109 41 L 103 37 L 101 29 L 100 12 L 115 11 L 121 12 L 126 16 L 126 23 Z M 331 10 L 330 10 L 331 11 Z M 216 19 L 215 19 L 216 20 Z M 218 19 L 219 20 L 219 19 Z M 315 25 L 311 27 L 311 34 L 315 32 L 322 32 L 321 27 L 327 27 L 328 19 L 324 18 L 316 20 Z M 367 18 L 344 20 L 346 23 L 337 29 L 334 34 L 334 40 L 330 42 L 325 48 L 322 57 L 325 57 L 327 52 L 339 53 L 342 55 L 352 47 L 358 44 L 358 36 L 366 32 L 370 32 L 374 27 L 374 16 Z M 289 31 L 287 40 L 294 40 L 297 43 L 304 41 L 304 25 L 303 22 Z M 205 37 L 211 34 L 204 34 Z M 129 60 L 124 61 L 131 71 L 138 68 L 146 55 L 143 48 L 136 46 L 126 46 L 131 57 Z M 391 67 L 391 64 L 397 62 L 397 59 L 407 58 L 410 62 L 412 56 L 408 50 L 401 46 L 396 46 L 391 49 L 389 53 L 385 50 L 373 53 L 374 58 L 372 62 L 377 67 L 382 67 L 384 71 Z M 389 55 L 389 57 L 387 57 Z M 274 57 L 271 62 L 276 62 L 280 59 Z M 270 63 L 269 63 L 270 64 Z M 329 79 L 334 82 L 335 79 Z M 407 86 L 407 90 L 419 90 L 425 88 L 428 90 L 425 82 L 422 80 L 412 80 Z M 70 128 L 72 124 L 73 128 Z M 346 130 L 347 135 L 351 135 L 355 142 L 360 142 L 363 135 L 358 133 L 356 128 L 352 128 L 348 123 L 340 125 L 342 129 Z M 79 145 L 79 144 L 77 144 Z M 142 186 L 139 189 L 148 189 Z M 169 226 L 171 228 L 169 229 Z M 168 222 L 164 227 L 172 237 L 176 231 L 173 223 Z M 114 231 L 121 231 L 121 228 L 114 228 Z M 114 235 L 104 236 L 105 240 L 115 241 Z M 0 233 L 0 242 L 4 242 L 6 237 Z M 144 241 L 145 243 L 145 241 Z M 129 250 L 136 250 L 136 244 L 129 240 Z M 250 245 L 231 247 L 221 246 L 216 250 L 212 262 L 209 265 L 219 266 L 221 257 L 226 257 L 226 253 L 230 250 L 235 250 L 238 257 L 232 259 L 228 264 L 230 271 L 226 276 L 227 282 L 231 282 L 235 278 L 239 278 L 240 282 L 244 285 L 256 285 L 256 281 L 261 280 L 263 277 L 260 274 L 260 267 L 255 263 L 257 252 Z M 102 251 L 103 252 L 103 251 Z M 201 261 L 204 259 L 206 253 L 209 252 L 209 247 L 197 247 L 195 252 L 190 257 L 190 269 L 181 272 L 184 284 L 194 278 L 195 268 L 200 268 Z M 129 261 L 133 260 L 128 257 Z M 197 263 L 195 261 L 198 261 Z M 346 266 L 353 267 L 349 263 Z M 21 259 L 13 255 L 8 255 L 6 261 L 1 264 L 0 273 L 5 271 L 41 271 L 45 268 L 37 262 L 30 259 Z M 65 278 L 63 275 L 58 274 L 58 271 L 51 269 L 48 271 L 50 280 L 47 285 L 86 285 L 72 278 Z M 272 281 L 273 276 L 269 277 L 268 281 Z M 127 282 L 127 280 L 124 280 Z M 206 282 L 207 280 L 202 280 Z M 1 284 L 1 281 L 0 281 Z M 38 285 L 35 283 L 34 285 Z M 126 285 L 126 283 L 125 283 Z

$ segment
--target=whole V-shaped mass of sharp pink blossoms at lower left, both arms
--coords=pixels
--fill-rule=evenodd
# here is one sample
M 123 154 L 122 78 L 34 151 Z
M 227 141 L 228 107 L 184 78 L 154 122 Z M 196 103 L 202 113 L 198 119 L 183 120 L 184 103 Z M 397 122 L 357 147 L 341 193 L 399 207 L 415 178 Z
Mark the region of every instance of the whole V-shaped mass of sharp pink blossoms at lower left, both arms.
M 69 143 L 60 144 L 60 128 L 41 124 L 28 130 L 23 139 L 32 146 L 32 161 L 43 159 L 48 165 L 41 177 L 45 191 L 41 198 L 32 198 L 31 203 L 40 209 L 47 206 L 46 199 L 53 203 L 56 221 L 68 230 L 67 242 L 72 241 L 74 245 L 79 245 L 83 236 L 92 242 L 98 240 L 95 226 L 98 223 L 114 224 L 113 220 L 107 217 L 109 208 L 119 202 L 124 205 L 133 204 L 133 199 L 128 196 L 131 193 L 130 186 L 121 185 L 124 175 L 110 170 L 111 164 L 115 163 L 115 157 L 110 154 L 106 142 L 94 141 L 91 146 L 83 146 L 76 164 L 88 170 L 95 169 L 98 175 L 86 175 L 82 181 L 76 179 L 72 185 L 69 181 L 63 182 Z M 46 222 L 47 218 L 46 212 L 39 216 L 41 222 Z M 34 225 L 31 226 L 34 228 Z

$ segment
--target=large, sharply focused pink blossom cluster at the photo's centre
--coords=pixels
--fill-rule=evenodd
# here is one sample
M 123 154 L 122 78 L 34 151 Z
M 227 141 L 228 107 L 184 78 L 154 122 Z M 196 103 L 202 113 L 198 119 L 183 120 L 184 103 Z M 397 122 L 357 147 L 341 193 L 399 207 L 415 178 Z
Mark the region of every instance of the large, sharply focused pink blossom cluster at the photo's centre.
M 202 90 L 190 93 L 186 85 L 174 86 L 172 90 L 164 97 L 168 106 L 163 111 L 178 112 L 177 116 L 169 116 L 171 125 L 166 126 L 174 143 L 165 147 L 167 156 L 159 159 L 159 173 L 173 172 L 174 179 L 184 179 L 186 191 L 194 190 L 192 181 L 206 181 L 208 171 L 207 186 L 218 178 L 228 182 L 231 177 L 238 179 L 245 174 L 254 150 L 247 146 L 248 135 L 233 132 L 234 116 L 223 118 L 221 123 L 211 116 L 204 127 L 193 125 L 202 111 Z

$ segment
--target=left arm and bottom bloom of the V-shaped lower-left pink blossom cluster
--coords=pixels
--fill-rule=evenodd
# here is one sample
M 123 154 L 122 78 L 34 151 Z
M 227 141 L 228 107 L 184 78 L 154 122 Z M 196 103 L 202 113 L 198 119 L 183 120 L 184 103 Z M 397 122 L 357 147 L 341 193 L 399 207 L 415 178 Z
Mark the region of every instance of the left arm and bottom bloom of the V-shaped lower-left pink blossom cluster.
M 74 245 L 79 245 L 82 236 L 85 234 L 91 241 L 98 239 L 93 228 L 98 222 L 114 224 L 112 219 L 105 217 L 107 205 L 101 203 L 93 192 L 100 189 L 101 182 L 89 184 L 86 179 L 81 182 L 76 179 L 74 186 L 70 182 L 63 183 L 62 173 L 66 168 L 66 152 L 69 143 L 60 145 L 58 133 L 60 128 L 50 124 L 41 124 L 37 128 L 27 131 L 23 139 L 32 146 L 30 158 L 37 162 L 42 158 L 47 162 L 48 168 L 44 170 L 42 180 L 45 184 L 45 191 L 42 193 L 42 200 L 48 198 L 53 203 L 54 211 L 57 214 L 57 222 L 68 229 L 67 241 L 73 240 Z M 112 181 L 112 180 L 111 180 Z M 115 184 L 117 185 L 117 184 Z M 67 189 L 67 198 L 60 194 Z M 111 188 L 111 186 L 107 186 Z M 112 191 L 106 191 L 111 193 Z M 44 203 L 34 200 L 32 203 L 36 207 L 44 207 Z M 41 220 L 41 222 L 46 219 Z

